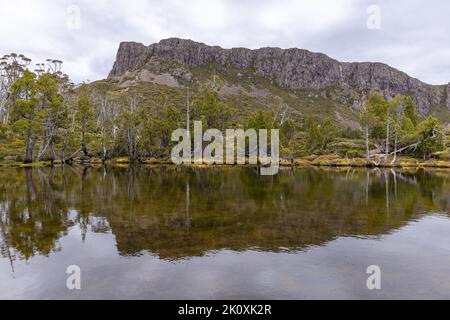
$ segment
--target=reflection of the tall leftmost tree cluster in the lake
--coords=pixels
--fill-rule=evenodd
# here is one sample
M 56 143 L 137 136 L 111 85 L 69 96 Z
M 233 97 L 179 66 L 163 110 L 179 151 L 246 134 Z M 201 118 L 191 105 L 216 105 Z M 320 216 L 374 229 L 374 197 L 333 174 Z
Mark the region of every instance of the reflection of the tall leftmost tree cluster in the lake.
M 54 170 L 46 174 L 33 169 L 1 173 L 2 253 L 11 261 L 60 249 L 58 239 L 70 223 L 63 193 L 54 186 Z

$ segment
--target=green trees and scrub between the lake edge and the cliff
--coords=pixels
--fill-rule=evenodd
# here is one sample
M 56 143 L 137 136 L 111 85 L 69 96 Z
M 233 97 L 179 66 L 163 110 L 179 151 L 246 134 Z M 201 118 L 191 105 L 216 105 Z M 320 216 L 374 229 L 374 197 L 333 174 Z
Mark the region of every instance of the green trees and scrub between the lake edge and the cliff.
M 279 129 L 285 165 L 413 166 L 421 159 L 422 165 L 448 166 L 450 160 L 450 129 L 433 115 L 418 114 L 410 96 L 370 92 L 358 125 L 348 126 L 336 121 L 332 106 L 314 112 L 308 102 L 309 112 L 298 112 L 283 93 L 267 97 L 271 108 L 249 96 L 224 96 L 226 80 L 215 71 L 208 80 L 197 70 L 204 81 L 189 88 L 121 87 L 111 80 L 75 86 L 60 71 L 61 61 L 47 62 L 47 69 L 39 64 L 31 72 L 23 55 L 1 59 L 0 162 L 167 161 L 171 132 L 192 130 L 193 120 L 221 130 Z M 250 86 L 245 79 L 242 85 Z

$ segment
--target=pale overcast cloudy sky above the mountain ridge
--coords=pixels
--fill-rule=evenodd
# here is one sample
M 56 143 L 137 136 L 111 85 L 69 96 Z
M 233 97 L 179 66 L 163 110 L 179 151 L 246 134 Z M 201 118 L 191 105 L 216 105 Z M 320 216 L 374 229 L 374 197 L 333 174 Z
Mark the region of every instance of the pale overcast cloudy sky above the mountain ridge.
M 121 41 L 189 38 L 225 48 L 298 47 L 450 81 L 448 0 L 0 0 L 0 54 L 64 61 L 105 78 Z

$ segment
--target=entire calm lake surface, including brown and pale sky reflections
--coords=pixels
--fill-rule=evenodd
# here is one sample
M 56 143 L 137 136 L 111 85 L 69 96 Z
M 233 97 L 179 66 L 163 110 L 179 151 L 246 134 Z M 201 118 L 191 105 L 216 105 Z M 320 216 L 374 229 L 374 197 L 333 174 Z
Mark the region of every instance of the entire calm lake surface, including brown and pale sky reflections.
M 450 171 L 1 169 L 0 298 L 450 299 L 449 213 Z

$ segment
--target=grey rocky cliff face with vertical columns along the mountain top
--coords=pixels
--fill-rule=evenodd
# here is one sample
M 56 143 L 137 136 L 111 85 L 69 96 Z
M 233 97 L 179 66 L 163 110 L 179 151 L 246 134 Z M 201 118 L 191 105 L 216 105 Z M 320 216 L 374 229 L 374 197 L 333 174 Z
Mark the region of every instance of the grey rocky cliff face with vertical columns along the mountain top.
M 219 63 L 225 67 L 252 68 L 257 75 L 289 89 L 338 86 L 358 91 L 378 90 L 390 97 L 413 94 L 419 112 L 426 113 L 432 104 L 438 103 L 450 109 L 450 86 L 426 84 L 386 64 L 342 63 L 302 49 L 222 49 L 177 38 L 150 46 L 122 42 L 109 78 L 143 68 L 151 59 L 186 66 Z

